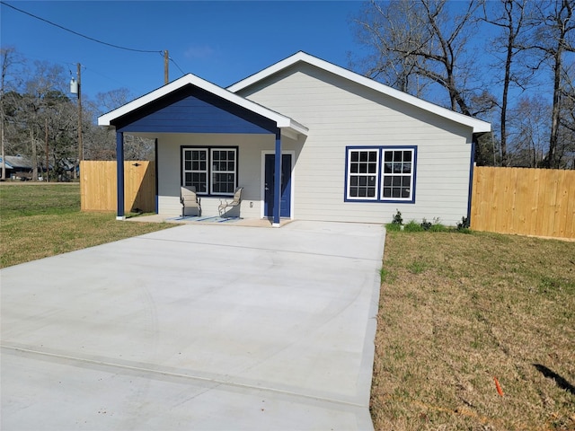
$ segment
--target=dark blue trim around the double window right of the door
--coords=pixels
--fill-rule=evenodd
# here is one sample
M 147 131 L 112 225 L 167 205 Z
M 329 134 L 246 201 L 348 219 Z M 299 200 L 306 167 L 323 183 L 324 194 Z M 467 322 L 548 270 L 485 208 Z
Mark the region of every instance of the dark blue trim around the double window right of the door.
M 378 152 L 378 166 L 377 166 L 377 189 L 376 189 L 376 198 L 369 198 L 369 199 L 354 199 L 348 198 L 348 177 L 349 177 L 349 150 L 364 150 L 364 151 L 373 151 L 377 150 Z M 412 175 L 412 183 L 411 183 L 411 199 L 384 199 L 381 197 L 381 188 L 383 182 L 383 156 L 384 151 L 393 151 L 393 150 L 413 150 L 413 175 Z M 414 204 L 415 203 L 415 192 L 417 186 L 417 145 L 349 145 L 345 147 L 345 177 L 344 177 L 344 189 L 343 189 L 343 201 L 344 202 L 360 202 L 360 203 L 380 203 L 380 204 Z

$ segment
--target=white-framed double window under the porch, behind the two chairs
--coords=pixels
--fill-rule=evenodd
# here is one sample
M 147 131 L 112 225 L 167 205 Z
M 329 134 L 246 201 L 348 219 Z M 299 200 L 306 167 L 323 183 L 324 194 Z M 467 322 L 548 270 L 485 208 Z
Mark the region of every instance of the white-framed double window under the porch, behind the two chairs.
M 233 195 L 237 187 L 237 148 L 182 147 L 182 185 L 203 195 Z

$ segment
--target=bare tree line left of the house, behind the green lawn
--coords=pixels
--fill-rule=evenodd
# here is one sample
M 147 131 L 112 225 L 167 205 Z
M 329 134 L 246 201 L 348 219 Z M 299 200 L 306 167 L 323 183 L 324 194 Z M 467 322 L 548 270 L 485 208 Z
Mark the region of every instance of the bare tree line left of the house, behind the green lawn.
M 32 165 L 32 179 L 49 166 L 50 180 L 74 177 L 79 161 L 77 96 L 69 92 L 70 76 L 64 66 L 46 61 L 32 64 L 15 48 L 0 50 L 0 117 L 2 157 L 23 155 Z M 94 100 L 82 95 L 84 160 L 115 160 L 113 128 L 96 125 L 96 119 L 132 100 L 128 89 L 100 92 Z M 149 160 L 154 143 L 125 136 L 126 160 Z M 48 163 L 47 163 L 48 160 Z M 2 163 L 0 163 L 2 165 Z M 2 179 L 5 171 L 2 170 Z

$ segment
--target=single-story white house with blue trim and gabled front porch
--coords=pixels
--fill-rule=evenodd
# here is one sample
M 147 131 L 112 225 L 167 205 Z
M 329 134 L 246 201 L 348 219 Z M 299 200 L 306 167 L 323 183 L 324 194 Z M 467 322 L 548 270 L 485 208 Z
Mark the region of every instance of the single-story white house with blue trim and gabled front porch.
M 181 213 L 195 186 L 204 215 L 242 186 L 249 218 L 389 223 L 470 211 L 473 145 L 491 125 L 305 52 L 228 88 L 184 75 L 102 115 L 116 128 L 118 218 L 123 134 L 155 139 L 156 209 Z

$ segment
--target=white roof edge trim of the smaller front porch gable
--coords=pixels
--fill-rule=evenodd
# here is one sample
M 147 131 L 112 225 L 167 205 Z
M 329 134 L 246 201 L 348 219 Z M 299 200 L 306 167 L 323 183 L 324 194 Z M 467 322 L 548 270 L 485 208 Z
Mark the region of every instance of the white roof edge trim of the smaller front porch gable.
M 215 96 L 220 97 L 225 101 L 229 101 L 239 107 L 261 115 L 261 117 L 270 119 L 271 121 L 274 121 L 277 127 L 282 130 L 288 130 L 288 132 L 296 133 L 298 135 L 307 135 L 308 129 L 305 126 L 299 124 L 296 120 L 290 119 L 289 117 L 286 117 L 285 115 L 282 115 L 275 110 L 270 110 L 264 106 L 261 106 L 254 101 L 249 101 L 248 99 L 245 99 L 242 96 L 235 94 L 234 92 L 229 92 L 225 88 L 222 88 L 216 84 L 212 84 L 202 78 L 199 78 L 199 76 L 192 74 L 183 75 L 181 78 L 176 79 L 172 83 L 165 84 L 153 92 L 148 92 L 136 100 L 130 101 L 127 104 L 120 106 L 116 110 L 111 110 L 110 112 L 103 114 L 102 116 L 98 117 L 98 125 L 111 126 L 115 120 L 133 112 L 134 110 L 138 110 L 154 101 L 157 101 L 164 96 L 167 96 L 173 92 L 177 92 L 181 88 L 190 84 L 199 87 L 206 92 L 214 94 Z

